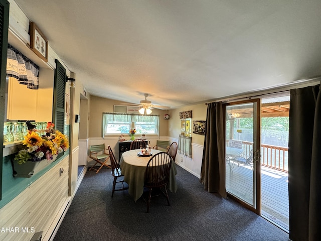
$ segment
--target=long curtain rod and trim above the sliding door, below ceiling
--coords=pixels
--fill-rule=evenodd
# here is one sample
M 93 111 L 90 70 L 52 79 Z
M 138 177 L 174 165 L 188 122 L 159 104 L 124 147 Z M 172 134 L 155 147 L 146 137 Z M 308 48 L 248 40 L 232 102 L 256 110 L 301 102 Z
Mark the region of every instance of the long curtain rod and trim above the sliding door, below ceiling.
M 321 76 L 316 76 L 316 77 L 310 78 L 308 80 L 307 79 L 297 80 L 297 81 L 295 81 L 296 83 L 292 83 L 292 84 L 288 84 L 288 85 L 284 85 L 284 86 L 279 86 L 279 87 L 275 87 L 275 88 L 271 88 L 271 89 L 265 89 L 265 90 L 256 91 L 256 92 L 252 92 L 252 93 L 243 93 L 243 94 L 240 93 L 238 96 L 230 96 L 230 97 L 227 96 L 222 99 L 216 99 L 216 100 L 213 100 L 210 102 L 206 102 L 205 105 L 208 105 L 209 103 L 213 103 L 213 102 L 218 102 L 218 101 L 228 102 L 228 101 L 232 101 L 232 100 L 234 101 L 234 100 L 251 99 L 251 98 L 260 97 L 263 95 L 273 95 L 273 94 L 277 94 L 277 93 L 287 92 L 295 86 L 307 87 L 307 86 L 312 86 L 314 84 L 321 84 L 321 80 L 319 81 L 320 78 L 321 78 Z M 275 90 L 275 91 L 273 91 L 273 90 Z M 257 93 L 257 94 L 253 95 L 255 93 Z

